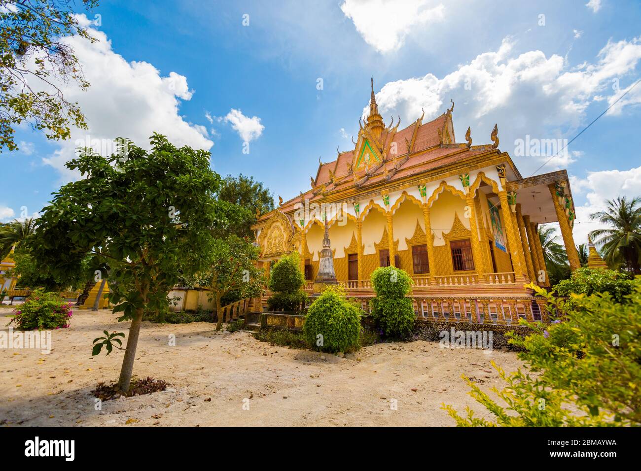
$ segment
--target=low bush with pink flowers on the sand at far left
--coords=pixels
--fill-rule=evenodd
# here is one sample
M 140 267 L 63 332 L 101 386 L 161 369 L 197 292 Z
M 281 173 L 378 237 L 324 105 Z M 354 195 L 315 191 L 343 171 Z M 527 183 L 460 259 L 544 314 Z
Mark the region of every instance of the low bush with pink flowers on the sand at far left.
M 21 330 L 65 329 L 71 324 L 71 302 L 58 293 L 35 290 L 26 302 L 13 310 L 10 325 Z

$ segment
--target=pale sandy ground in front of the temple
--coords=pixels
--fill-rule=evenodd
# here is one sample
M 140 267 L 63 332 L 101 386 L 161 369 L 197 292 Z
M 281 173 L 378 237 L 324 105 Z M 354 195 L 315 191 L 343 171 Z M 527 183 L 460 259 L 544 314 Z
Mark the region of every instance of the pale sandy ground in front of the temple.
M 0 310 L 0 328 L 9 309 Z M 441 349 L 437 342 L 383 343 L 340 358 L 258 342 L 213 324 L 144 322 L 134 374 L 165 379 L 165 392 L 104 401 L 90 391 L 115 381 L 121 351 L 91 356 L 102 331 L 124 331 L 110 311 L 74 311 L 53 331 L 53 349 L 0 351 L 0 424 L 4 426 L 453 426 L 442 402 L 471 406 L 461 374 L 501 388 L 490 360 L 513 371 L 512 352 Z M 176 346 L 168 345 L 169 335 Z M 392 399 L 397 409 L 390 408 Z M 247 405 L 249 409 L 247 409 Z

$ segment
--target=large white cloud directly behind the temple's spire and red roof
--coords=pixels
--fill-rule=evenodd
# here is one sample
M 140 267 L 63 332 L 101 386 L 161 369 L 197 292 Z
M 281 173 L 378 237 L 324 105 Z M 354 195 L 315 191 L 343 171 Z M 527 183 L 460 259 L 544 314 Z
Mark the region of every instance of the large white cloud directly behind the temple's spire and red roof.
M 526 135 L 566 138 L 584 124 L 589 104 L 600 94 L 609 96 L 612 79 L 629 74 L 641 60 L 641 37 L 608 41 L 594 63 L 571 69 L 557 54 L 546 57 L 542 51 L 528 51 L 515 56 L 512 49 L 512 38 L 504 38 L 498 51 L 479 54 L 443 78 L 426 74 L 389 82 L 376 94 L 379 112 L 387 119 L 390 114 L 401 115 L 408 124 L 420 117 L 424 108 L 425 121 L 444 112 L 451 98 L 456 103 L 454 127 L 458 141 L 471 126 L 474 144 L 487 144 L 497 123 L 500 148 L 515 158 L 511 146 L 517 139 Z M 641 91 L 641 86 L 638 88 Z M 368 112 L 365 106 L 363 115 Z M 572 163 L 577 155 L 572 154 L 571 146 L 569 151 L 541 171 Z M 528 176 L 549 157 L 515 160 L 522 174 Z

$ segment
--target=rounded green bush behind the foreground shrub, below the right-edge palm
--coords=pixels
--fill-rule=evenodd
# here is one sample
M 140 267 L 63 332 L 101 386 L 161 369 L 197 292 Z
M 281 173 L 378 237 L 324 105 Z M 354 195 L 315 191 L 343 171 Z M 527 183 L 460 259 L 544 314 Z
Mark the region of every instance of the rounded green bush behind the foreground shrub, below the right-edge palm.
M 626 302 L 626 296 L 634 289 L 635 281 L 625 273 L 606 269 L 583 267 L 572 272 L 570 279 L 564 279 L 554 286 L 559 296 L 574 294 L 610 293 L 616 302 Z

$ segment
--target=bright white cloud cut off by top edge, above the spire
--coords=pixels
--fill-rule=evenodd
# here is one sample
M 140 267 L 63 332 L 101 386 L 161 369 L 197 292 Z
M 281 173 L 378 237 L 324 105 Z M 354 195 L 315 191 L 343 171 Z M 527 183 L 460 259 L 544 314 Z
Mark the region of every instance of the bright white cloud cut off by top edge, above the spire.
M 408 31 L 444 17 L 443 4 L 429 0 L 345 0 L 340 6 L 367 44 L 381 53 L 396 51 Z

